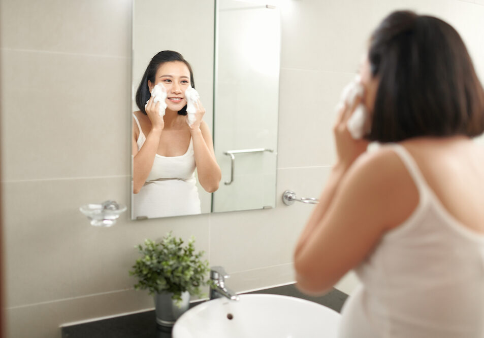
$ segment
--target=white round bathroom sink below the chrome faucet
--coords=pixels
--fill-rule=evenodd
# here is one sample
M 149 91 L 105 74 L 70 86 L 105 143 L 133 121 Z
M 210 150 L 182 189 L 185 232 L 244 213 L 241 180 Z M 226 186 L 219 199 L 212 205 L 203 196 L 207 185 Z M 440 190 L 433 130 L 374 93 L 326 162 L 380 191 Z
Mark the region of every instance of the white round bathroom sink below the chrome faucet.
M 239 301 L 217 298 L 185 312 L 173 338 L 336 337 L 340 314 L 301 298 L 241 294 Z

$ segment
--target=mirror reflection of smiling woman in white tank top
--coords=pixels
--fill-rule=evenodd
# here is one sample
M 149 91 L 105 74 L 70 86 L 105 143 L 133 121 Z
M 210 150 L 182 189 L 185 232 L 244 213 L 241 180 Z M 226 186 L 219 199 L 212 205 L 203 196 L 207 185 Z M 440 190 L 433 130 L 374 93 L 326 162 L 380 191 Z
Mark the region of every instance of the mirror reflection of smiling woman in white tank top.
M 151 96 L 157 84 L 167 93 L 165 116 Z M 136 92 L 140 110 L 133 114 L 134 217 L 199 214 L 196 168 L 207 192 L 218 189 L 220 168 L 200 100 L 195 122 L 187 123 L 185 90 L 190 86 L 195 88 L 191 66 L 177 52 L 159 52 L 144 72 Z

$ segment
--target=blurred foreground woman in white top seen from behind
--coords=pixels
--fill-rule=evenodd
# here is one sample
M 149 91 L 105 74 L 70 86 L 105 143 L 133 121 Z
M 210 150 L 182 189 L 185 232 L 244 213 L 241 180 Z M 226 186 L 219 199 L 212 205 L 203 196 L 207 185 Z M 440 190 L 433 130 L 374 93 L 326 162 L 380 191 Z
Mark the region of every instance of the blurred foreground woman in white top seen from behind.
M 338 160 L 297 243 L 299 288 L 361 281 L 340 337 L 484 337 L 484 92 L 447 23 L 395 12 L 371 36 L 364 93 L 334 127 Z M 351 138 L 354 108 L 369 111 Z M 366 153 L 368 141 L 383 143 Z M 390 143 L 394 142 L 394 143 Z

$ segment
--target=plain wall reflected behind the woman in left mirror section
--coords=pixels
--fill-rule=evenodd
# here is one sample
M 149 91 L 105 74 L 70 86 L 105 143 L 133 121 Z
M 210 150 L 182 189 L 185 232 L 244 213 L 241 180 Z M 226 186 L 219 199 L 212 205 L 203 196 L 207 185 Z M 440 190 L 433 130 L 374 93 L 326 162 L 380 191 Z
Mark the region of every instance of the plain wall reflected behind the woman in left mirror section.
M 135 94 L 151 58 L 162 50 L 177 51 L 191 64 L 206 110 L 203 120 L 213 135 L 214 6 L 213 1 L 199 0 L 133 1 L 132 111 L 139 110 Z M 197 187 L 202 213 L 209 213 L 211 194 L 198 178 Z

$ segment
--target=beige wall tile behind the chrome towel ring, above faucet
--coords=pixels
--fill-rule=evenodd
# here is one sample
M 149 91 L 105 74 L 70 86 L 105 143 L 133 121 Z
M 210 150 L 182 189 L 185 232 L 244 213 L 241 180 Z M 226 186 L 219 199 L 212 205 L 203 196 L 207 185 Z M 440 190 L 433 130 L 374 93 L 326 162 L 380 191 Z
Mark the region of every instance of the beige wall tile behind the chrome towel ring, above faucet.
M 312 206 L 303 203 L 286 206 L 282 203 L 282 193 L 292 189 L 300 196 L 319 195 L 319 187 L 329 170 L 325 167 L 279 169 L 275 209 L 212 214 L 210 264 L 235 273 L 292 262 L 296 240 Z M 307 186 L 318 188 L 310 191 Z

